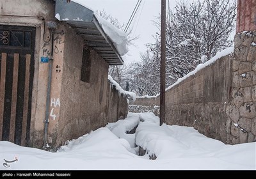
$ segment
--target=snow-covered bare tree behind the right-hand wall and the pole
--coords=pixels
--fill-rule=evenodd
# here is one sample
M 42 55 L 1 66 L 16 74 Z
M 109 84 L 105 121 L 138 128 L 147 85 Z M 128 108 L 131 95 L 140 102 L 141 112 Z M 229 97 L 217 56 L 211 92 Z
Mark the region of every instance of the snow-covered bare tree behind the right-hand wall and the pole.
M 230 34 L 235 29 L 236 1 L 184 2 L 178 3 L 175 11 L 168 13 L 166 18 L 166 86 L 170 86 L 194 70 L 198 64 L 211 59 L 216 52 L 230 47 L 233 43 Z M 159 16 L 155 21 L 159 28 L 160 22 Z M 156 43 L 147 45 L 148 50 L 141 56 L 142 62 L 137 65 L 139 71 L 142 70 L 139 73 L 145 74 L 141 76 L 141 81 L 145 83 L 141 90 L 148 95 L 159 93 L 159 33 L 156 33 L 155 39 Z

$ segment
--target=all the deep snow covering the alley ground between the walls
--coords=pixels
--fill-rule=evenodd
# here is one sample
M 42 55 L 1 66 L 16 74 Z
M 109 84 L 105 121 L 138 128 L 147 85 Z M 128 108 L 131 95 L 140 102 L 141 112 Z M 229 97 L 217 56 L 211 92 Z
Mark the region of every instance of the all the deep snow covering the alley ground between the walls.
M 137 125 L 135 134 L 126 134 Z M 0 144 L 1 170 L 256 169 L 256 143 L 232 146 L 192 127 L 159 127 L 153 113 L 129 113 L 125 120 L 68 141 L 56 153 L 7 141 Z M 138 146 L 148 152 L 139 156 Z M 156 160 L 149 160 L 152 154 Z M 4 159 L 17 161 L 4 167 Z

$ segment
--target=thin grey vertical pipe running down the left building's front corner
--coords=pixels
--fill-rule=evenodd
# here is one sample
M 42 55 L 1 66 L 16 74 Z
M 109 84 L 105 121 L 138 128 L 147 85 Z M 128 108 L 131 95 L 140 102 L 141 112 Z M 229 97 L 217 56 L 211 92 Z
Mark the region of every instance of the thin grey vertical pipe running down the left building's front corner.
M 48 134 L 49 111 L 50 111 L 50 95 L 51 95 L 51 83 L 52 83 L 54 29 L 51 30 L 51 33 L 52 33 L 52 36 L 51 36 L 51 38 L 52 38 L 52 48 L 51 48 L 51 59 L 49 59 L 47 97 L 46 97 L 46 109 L 45 109 L 45 120 L 44 120 L 44 146 L 43 146 L 44 150 L 46 150 L 49 147 L 48 143 L 47 143 L 47 134 Z

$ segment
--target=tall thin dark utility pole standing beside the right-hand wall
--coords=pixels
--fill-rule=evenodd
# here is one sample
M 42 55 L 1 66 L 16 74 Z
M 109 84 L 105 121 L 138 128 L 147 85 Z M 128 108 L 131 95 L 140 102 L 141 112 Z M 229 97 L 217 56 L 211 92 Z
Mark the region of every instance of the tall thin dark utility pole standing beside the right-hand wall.
M 160 125 L 165 123 L 166 0 L 161 0 Z

